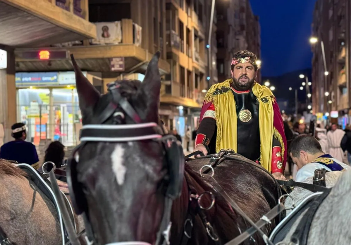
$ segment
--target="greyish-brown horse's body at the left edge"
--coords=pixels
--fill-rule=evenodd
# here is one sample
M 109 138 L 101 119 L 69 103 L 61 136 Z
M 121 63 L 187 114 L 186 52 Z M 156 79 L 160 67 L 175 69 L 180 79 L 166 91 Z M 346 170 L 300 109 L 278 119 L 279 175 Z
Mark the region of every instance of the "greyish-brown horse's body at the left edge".
M 27 173 L 0 159 L 0 227 L 13 245 L 61 245 L 57 209 L 27 178 Z M 62 191 L 67 191 L 62 183 Z M 84 230 L 82 217 L 75 215 L 77 230 Z

